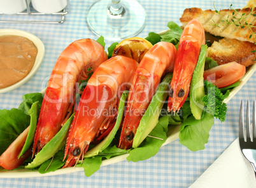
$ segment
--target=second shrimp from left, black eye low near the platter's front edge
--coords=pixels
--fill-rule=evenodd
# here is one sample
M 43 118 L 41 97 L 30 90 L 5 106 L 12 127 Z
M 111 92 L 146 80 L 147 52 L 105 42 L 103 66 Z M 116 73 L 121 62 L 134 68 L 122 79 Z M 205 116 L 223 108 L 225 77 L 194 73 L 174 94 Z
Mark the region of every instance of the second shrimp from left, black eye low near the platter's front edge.
M 89 144 L 111 124 L 112 110 L 116 107 L 119 91 L 132 82 L 138 62 L 116 56 L 99 65 L 90 77 L 78 104 L 66 142 L 63 168 L 73 166 L 87 152 Z

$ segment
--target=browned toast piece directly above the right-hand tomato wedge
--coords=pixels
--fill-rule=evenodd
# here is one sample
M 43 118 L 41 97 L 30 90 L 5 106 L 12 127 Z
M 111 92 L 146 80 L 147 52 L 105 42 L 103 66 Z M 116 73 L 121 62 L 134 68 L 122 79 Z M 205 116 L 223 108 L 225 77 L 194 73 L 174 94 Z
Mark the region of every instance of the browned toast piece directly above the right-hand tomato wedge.
M 256 50 L 256 45 L 253 43 L 225 37 L 218 42 L 215 41 L 208 48 L 206 56 L 215 60 L 218 65 L 235 61 L 248 67 L 255 64 L 256 53 L 252 53 L 253 50 Z

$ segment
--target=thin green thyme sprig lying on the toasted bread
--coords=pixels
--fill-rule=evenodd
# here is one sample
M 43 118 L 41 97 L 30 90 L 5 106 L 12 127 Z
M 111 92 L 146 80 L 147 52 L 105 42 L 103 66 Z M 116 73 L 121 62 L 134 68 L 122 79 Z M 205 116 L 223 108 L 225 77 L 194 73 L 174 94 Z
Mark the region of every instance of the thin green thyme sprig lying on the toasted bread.
M 213 3 L 213 7 L 214 7 L 214 9 L 215 9 L 215 12 L 218 13 L 218 15 L 220 15 L 220 17 L 222 18 L 222 20 L 221 20 L 222 24 L 217 24 L 217 23 L 213 20 L 213 22 L 215 23 L 215 24 L 213 24 L 213 25 L 215 25 L 215 26 L 217 26 L 217 27 L 220 27 L 220 25 L 231 25 L 231 24 L 234 24 L 234 25 L 236 25 L 237 27 L 241 27 L 241 29 L 244 29 L 245 27 L 248 27 L 248 28 L 250 29 L 250 31 L 252 32 L 252 34 L 249 36 L 249 38 L 252 38 L 252 37 L 253 37 L 253 39 L 254 39 L 254 41 L 255 41 L 255 44 L 256 44 L 256 33 L 253 32 L 253 30 L 252 30 L 252 29 L 255 28 L 256 26 L 254 26 L 252 23 L 248 23 L 248 22 L 246 21 L 246 18 L 249 17 L 250 15 L 252 15 L 253 17 L 256 17 L 256 11 L 252 11 L 252 8 L 251 8 L 251 11 L 250 11 L 250 13 L 249 13 L 248 15 L 245 15 L 245 13 L 241 14 L 241 13 L 239 13 L 238 9 L 232 8 L 232 4 L 231 4 L 231 6 L 230 6 L 229 8 L 230 8 L 231 10 L 233 10 L 233 12 L 232 12 L 232 18 L 229 19 L 229 15 L 227 16 L 227 18 L 225 18 L 224 16 L 222 16 L 222 15 L 220 14 L 221 10 L 218 11 L 217 8 L 215 8 L 215 3 Z M 234 16 L 235 13 L 237 13 L 238 16 L 235 17 L 235 16 Z M 242 21 L 245 21 L 245 24 L 241 24 Z

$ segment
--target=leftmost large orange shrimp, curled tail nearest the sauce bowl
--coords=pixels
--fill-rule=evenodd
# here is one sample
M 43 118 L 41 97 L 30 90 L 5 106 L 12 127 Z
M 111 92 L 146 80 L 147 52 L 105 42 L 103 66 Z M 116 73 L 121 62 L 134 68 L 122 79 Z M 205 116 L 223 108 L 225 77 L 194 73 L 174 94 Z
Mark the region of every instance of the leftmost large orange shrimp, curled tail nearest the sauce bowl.
M 60 130 L 75 103 L 76 82 L 87 78 L 88 69 L 108 59 L 103 46 L 93 39 L 80 39 L 62 51 L 45 91 L 34 136 L 33 153 L 39 152 Z M 68 116 L 67 116 L 68 114 Z

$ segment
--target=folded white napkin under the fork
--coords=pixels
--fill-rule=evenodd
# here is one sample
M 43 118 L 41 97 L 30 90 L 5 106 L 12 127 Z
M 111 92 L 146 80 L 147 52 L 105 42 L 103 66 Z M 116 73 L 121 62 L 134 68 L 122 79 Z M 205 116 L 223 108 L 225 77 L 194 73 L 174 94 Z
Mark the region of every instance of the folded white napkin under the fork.
M 238 138 L 189 188 L 256 187 L 252 165 L 245 159 Z

